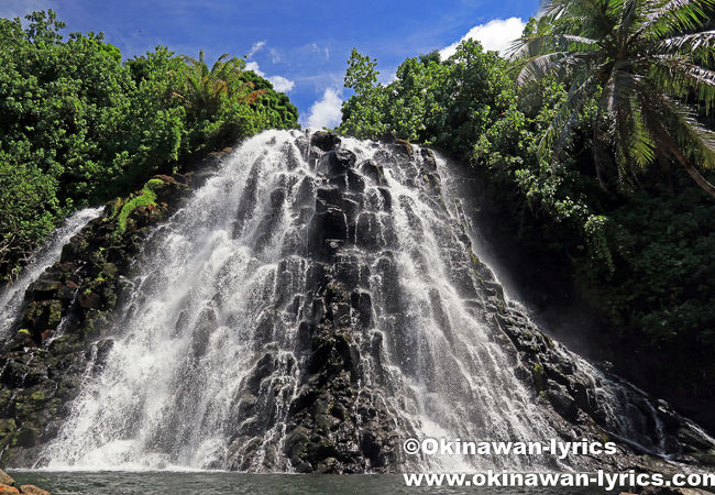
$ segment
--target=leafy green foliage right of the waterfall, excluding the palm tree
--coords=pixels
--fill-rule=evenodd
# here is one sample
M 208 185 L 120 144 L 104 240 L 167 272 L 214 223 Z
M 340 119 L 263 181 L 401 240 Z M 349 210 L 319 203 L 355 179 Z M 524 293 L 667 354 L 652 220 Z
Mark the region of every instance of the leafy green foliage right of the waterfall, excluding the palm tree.
M 557 33 L 576 36 L 578 26 L 573 19 L 540 18 L 527 24 L 524 36 L 536 45 L 537 37 Z M 572 48 L 584 43 L 569 41 Z M 376 61 L 353 51 L 345 86 L 355 95 L 343 105 L 339 130 L 372 139 L 392 132 L 471 163 L 491 198 L 485 207 L 510 217 L 526 250 L 564 260 L 614 332 L 641 348 L 715 350 L 715 204 L 681 168 L 664 166 L 668 156 L 679 158 L 671 148 L 663 156 L 662 136 L 652 134 L 642 110 L 631 112 L 617 136 L 622 144 L 605 136 L 616 129 L 613 119 L 603 120 L 613 88 L 596 84 L 580 92 L 587 77 L 551 70 L 517 94 L 524 74 L 524 62 L 466 42 L 447 61 L 433 54 L 408 58 L 395 81 L 380 85 Z M 660 82 L 661 95 L 674 88 Z M 692 103 L 705 82 L 691 82 L 683 87 Z M 685 94 L 669 98 L 675 105 L 678 97 Z M 644 102 L 639 98 L 629 100 L 631 109 Z M 703 101 L 705 110 L 707 98 Z M 672 136 L 689 150 L 676 132 Z M 627 163 L 620 173 L 598 174 L 594 152 L 596 161 Z M 652 160 L 661 166 L 649 166 Z

